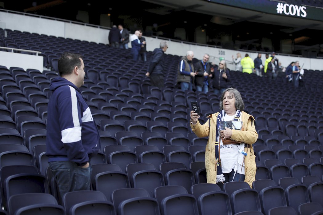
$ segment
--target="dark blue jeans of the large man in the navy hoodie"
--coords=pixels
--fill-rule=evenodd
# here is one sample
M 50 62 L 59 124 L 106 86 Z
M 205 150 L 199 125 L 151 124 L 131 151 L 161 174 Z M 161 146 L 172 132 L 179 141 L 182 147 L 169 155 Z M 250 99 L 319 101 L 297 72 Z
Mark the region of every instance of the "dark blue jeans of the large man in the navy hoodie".
M 70 191 L 90 190 L 92 166 L 82 168 L 70 161 L 49 162 L 61 197 Z

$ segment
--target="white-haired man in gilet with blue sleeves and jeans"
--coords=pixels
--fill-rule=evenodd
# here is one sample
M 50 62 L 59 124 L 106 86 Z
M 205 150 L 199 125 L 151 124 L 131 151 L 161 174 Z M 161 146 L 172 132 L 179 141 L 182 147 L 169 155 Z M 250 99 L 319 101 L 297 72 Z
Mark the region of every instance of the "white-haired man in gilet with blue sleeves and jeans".
M 193 90 L 192 78 L 195 77 L 195 70 L 193 65 L 193 51 L 187 51 L 186 56 L 181 58 L 178 65 L 177 82 L 181 84 L 181 89 Z

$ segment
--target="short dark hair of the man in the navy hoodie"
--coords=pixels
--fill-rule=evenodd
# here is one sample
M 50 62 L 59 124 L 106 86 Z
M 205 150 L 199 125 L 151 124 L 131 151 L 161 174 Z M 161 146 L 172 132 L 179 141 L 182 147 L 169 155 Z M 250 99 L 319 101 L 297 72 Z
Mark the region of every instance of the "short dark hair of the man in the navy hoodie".
M 82 65 L 80 58 L 82 55 L 64 52 L 58 59 L 58 71 L 60 76 L 69 75 L 73 72 L 75 66 Z

